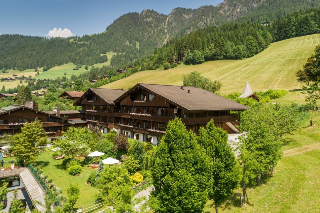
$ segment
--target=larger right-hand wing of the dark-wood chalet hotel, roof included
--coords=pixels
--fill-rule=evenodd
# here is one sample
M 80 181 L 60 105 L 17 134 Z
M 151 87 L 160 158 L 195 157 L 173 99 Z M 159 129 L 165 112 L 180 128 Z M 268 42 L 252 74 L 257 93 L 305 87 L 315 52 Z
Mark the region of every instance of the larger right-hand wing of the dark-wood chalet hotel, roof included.
M 228 133 L 239 133 L 236 125 L 240 112 L 249 108 L 198 87 L 144 83 L 136 84 L 114 103 L 113 129 L 153 144 L 157 144 L 167 123 L 175 117 L 180 117 L 187 129 L 195 133 L 211 119 Z

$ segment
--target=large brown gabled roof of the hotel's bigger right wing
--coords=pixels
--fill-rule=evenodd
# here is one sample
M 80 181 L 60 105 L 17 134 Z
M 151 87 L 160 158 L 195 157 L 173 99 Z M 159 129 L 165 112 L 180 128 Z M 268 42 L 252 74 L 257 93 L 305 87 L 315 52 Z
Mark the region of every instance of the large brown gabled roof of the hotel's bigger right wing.
M 133 89 L 141 87 L 150 91 L 169 103 L 177 105 L 186 111 L 216 111 L 216 110 L 245 110 L 249 107 L 239 104 L 230 99 L 223 98 L 212 92 L 200 89 L 198 87 L 172 86 L 172 85 L 159 85 L 138 83 L 127 91 L 124 95 L 120 96 L 115 101 L 122 99 L 125 95 L 131 93 Z M 190 93 L 188 93 L 190 91 Z

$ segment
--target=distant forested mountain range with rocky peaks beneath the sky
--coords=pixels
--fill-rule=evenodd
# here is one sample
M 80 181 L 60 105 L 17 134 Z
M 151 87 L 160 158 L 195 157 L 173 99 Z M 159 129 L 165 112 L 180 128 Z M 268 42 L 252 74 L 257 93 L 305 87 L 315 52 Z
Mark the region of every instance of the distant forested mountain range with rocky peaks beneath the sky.
M 130 12 L 120 16 L 106 31 L 67 39 L 1 35 L 0 69 L 34 69 L 73 62 L 103 63 L 106 52 L 118 52 L 111 65 L 124 66 L 133 59 L 148 55 L 175 37 L 230 20 L 260 23 L 288 13 L 319 6 L 320 0 L 225 0 L 217 6 L 198 9 L 175 8 L 168 15 L 153 10 Z M 122 54 L 121 54 L 122 53 Z

